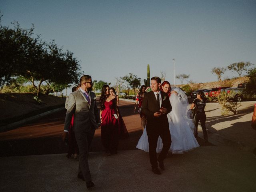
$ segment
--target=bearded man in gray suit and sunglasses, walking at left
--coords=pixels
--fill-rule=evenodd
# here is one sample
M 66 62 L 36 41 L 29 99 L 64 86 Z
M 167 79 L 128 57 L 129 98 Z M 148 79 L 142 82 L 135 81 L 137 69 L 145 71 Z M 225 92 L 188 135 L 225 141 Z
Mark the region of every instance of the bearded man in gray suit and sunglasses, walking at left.
M 84 75 L 80 78 L 81 87 L 68 97 L 64 133 L 62 139 L 68 136 L 71 119 L 74 114 L 73 131 L 79 148 L 78 178 L 86 181 L 87 188 L 94 187 L 88 165 L 89 147 L 95 129 L 100 125 L 100 115 L 96 105 L 96 96 L 92 89 L 92 77 Z

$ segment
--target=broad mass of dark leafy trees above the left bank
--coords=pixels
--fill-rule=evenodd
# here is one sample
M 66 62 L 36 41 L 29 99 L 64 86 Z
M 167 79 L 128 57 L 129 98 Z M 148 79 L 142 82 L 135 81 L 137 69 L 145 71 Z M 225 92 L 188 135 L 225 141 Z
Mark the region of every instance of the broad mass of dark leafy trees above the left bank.
M 73 53 L 63 52 L 54 40 L 46 43 L 40 35 L 34 38 L 33 31 L 33 25 L 22 29 L 18 22 L 13 28 L 0 25 L 0 86 L 10 82 L 12 76 L 21 75 L 39 95 L 43 83 L 46 93 L 52 90 L 53 84 L 78 83 L 80 65 Z

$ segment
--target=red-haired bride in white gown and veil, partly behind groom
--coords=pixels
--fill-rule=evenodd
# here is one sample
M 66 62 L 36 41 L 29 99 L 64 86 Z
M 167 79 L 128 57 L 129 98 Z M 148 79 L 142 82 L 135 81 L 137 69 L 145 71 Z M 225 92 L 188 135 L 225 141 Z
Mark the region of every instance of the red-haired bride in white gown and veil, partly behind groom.
M 190 119 L 190 111 L 188 111 L 188 97 L 179 88 L 170 90 L 170 83 L 164 81 L 161 85 L 161 91 L 169 94 L 172 111 L 167 114 L 169 129 L 171 133 L 172 144 L 170 151 L 173 154 L 181 154 L 199 147 L 199 144 L 194 137 L 194 123 Z M 162 139 L 158 138 L 156 152 L 161 152 L 163 147 Z M 146 128 L 143 131 L 136 148 L 148 152 L 148 135 Z

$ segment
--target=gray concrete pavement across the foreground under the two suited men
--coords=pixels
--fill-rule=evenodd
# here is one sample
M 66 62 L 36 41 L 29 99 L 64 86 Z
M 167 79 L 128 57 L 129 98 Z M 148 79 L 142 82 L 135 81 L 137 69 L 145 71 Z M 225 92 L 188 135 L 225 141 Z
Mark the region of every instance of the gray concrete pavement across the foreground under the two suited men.
M 82 192 L 78 161 L 66 154 L 1 157 L 1 192 Z M 161 175 L 150 169 L 148 153 L 119 151 L 89 157 L 95 192 L 253 192 L 256 159 L 250 152 L 227 146 L 205 146 L 168 155 Z

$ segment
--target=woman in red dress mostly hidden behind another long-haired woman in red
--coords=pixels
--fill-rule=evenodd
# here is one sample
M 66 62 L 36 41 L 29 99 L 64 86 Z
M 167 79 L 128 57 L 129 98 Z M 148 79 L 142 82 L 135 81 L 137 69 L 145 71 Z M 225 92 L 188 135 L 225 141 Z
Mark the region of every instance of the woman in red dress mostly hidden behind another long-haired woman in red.
M 109 93 L 110 95 L 113 95 L 116 97 L 116 110 L 117 110 L 117 113 L 118 113 L 118 135 L 119 135 L 119 138 L 120 139 L 126 139 L 129 137 L 128 135 L 128 131 L 127 131 L 127 128 L 124 124 L 124 120 L 122 118 L 122 115 L 120 113 L 120 110 L 118 108 L 118 102 L 119 102 L 119 98 L 118 98 L 118 95 L 116 94 L 116 90 L 113 88 L 113 87 L 110 87 L 109 88 Z

